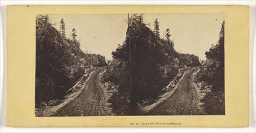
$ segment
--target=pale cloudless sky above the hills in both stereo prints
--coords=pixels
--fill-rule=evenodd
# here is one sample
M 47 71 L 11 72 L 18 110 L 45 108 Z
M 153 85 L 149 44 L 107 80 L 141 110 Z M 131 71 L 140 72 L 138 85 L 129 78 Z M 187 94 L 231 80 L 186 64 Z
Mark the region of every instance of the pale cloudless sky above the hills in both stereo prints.
M 118 44 L 123 44 L 126 37 L 128 15 L 49 15 L 50 22 L 56 23 L 59 30 L 61 18 L 65 21 L 66 34 L 76 28 L 77 40 L 81 41 L 81 50 L 87 48 L 89 53 L 101 54 L 106 59 L 112 59 L 112 51 Z M 182 53 L 194 54 L 200 59 L 205 59 L 205 51 L 212 44 L 218 42 L 218 36 L 223 13 L 198 13 L 198 14 L 144 14 L 144 22 L 151 24 L 154 20 L 160 22 L 160 36 L 165 30 L 171 31 L 171 40 L 174 40 L 174 49 Z

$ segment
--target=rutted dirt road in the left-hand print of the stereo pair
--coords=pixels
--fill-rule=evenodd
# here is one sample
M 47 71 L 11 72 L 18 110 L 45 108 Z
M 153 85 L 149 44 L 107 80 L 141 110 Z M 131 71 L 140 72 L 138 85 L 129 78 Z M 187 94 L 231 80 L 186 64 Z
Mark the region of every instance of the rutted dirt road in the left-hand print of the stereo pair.
M 108 115 L 105 111 L 107 106 L 105 97 L 103 96 L 103 90 L 97 83 L 99 82 L 99 73 L 102 71 L 102 69 L 94 71 L 80 96 L 57 111 L 57 116 Z

